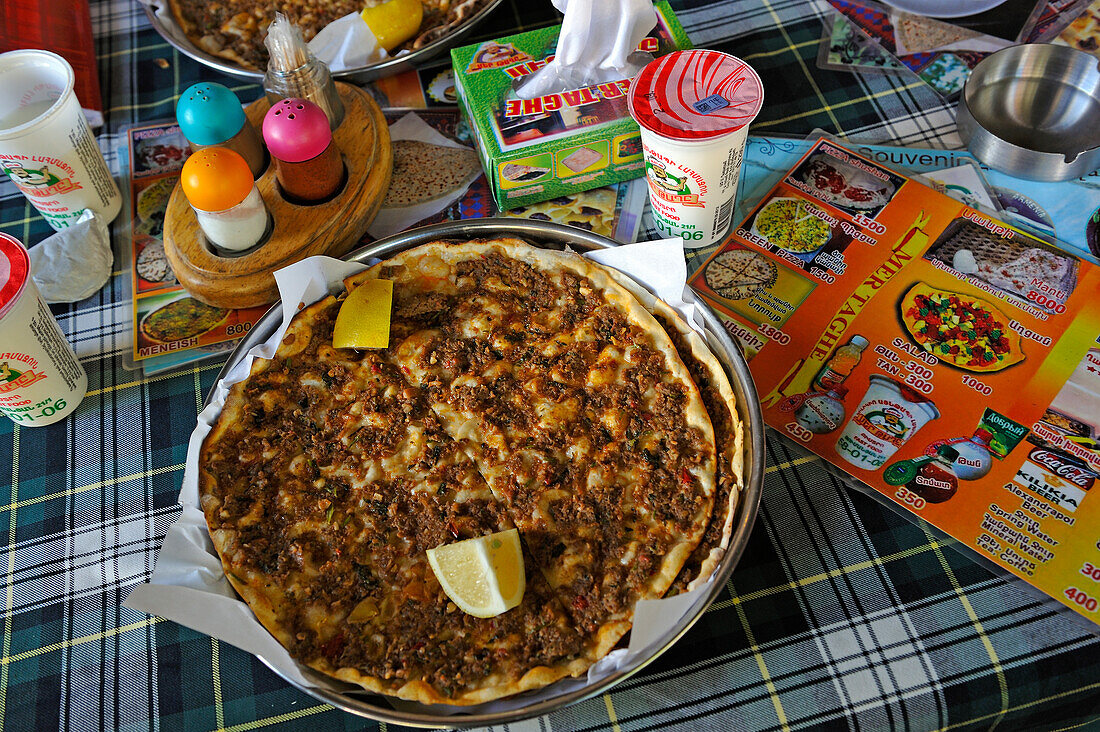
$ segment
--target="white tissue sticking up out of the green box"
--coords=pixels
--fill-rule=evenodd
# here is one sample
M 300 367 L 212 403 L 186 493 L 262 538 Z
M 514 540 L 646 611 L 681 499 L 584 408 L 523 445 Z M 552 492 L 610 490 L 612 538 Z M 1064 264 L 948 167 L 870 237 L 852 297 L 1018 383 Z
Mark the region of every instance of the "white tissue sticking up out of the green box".
M 516 90 L 520 98 L 628 79 L 649 61 L 631 54 L 657 25 L 652 0 L 552 1 L 565 14 L 558 51 Z

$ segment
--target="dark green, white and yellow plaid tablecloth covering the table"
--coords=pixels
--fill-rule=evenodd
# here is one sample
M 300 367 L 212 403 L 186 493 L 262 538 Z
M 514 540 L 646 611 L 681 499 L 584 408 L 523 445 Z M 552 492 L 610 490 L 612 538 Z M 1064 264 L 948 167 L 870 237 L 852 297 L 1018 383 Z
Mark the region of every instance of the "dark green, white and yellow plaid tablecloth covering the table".
M 915 78 L 816 67 L 824 0 L 672 4 L 697 46 L 760 72 L 756 132 L 822 128 L 958 144 L 953 109 Z M 510 0 L 477 37 L 556 18 L 546 0 Z M 123 125 L 169 118 L 196 80 L 227 81 L 174 52 L 132 0 L 94 0 L 92 21 L 109 159 Z M 228 84 L 246 100 L 260 94 Z M 29 244 L 48 233 L 7 183 L 0 228 Z M 54 307 L 89 374 L 74 416 L 43 428 L 0 420 L 0 466 L 11 465 L 10 482 L 0 479 L 0 724 L 385 730 L 318 703 L 237 648 L 120 607 L 148 577 L 177 515 L 187 438 L 221 365 L 153 378 L 124 370 L 128 296 L 116 272 L 94 297 Z M 1067 730 L 1100 721 L 1100 642 L 1057 603 L 844 488 L 776 436 L 768 462 L 756 531 L 701 622 L 610 693 L 508 730 Z

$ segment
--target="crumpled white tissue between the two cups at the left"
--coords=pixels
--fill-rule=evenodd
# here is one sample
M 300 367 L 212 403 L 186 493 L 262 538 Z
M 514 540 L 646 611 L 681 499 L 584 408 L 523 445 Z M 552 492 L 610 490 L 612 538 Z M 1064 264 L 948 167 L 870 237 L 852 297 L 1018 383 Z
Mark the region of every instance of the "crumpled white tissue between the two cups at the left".
M 75 303 L 90 297 L 111 276 L 114 254 L 107 223 L 90 208 L 76 223 L 28 250 L 31 277 L 47 303 Z

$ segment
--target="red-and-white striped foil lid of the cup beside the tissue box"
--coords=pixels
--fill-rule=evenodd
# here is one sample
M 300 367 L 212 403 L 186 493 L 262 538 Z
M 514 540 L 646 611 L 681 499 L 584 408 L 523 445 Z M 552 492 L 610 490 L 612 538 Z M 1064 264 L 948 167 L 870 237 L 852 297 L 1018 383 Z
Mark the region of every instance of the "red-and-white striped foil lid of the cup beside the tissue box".
M 751 122 L 763 105 L 760 77 L 736 56 L 675 51 L 646 66 L 630 84 L 630 116 L 673 140 L 711 140 Z

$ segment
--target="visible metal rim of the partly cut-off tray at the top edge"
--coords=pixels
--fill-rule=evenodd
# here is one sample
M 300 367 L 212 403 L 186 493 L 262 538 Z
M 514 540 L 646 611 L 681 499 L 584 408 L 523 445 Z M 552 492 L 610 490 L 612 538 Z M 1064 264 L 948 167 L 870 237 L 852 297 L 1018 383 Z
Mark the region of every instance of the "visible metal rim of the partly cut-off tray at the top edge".
M 416 51 L 411 51 L 399 56 L 393 56 L 374 64 L 356 66 L 355 68 L 349 68 L 342 72 L 332 72 L 332 76 L 344 81 L 362 84 L 382 78 L 384 76 L 400 74 L 402 72 L 407 72 L 410 68 L 416 68 L 417 66 L 422 66 L 427 61 L 442 54 L 446 51 L 449 51 L 453 46 L 457 46 L 462 40 L 470 35 L 471 31 L 473 31 L 479 23 L 485 20 L 485 18 L 493 12 L 494 8 L 502 2 L 503 0 L 488 0 L 484 8 L 464 20 L 453 31 L 436 39 L 421 48 L 417 48 Z M 157 18 L 156 10 L 154 8 L 144 3 L 142 7 L 145 9 L 145 17 L 148 18 L 150 24 L 165 41 L 168 42 L 168 45 L 173 46 L 179 53 L 199 62 L 200 64 L 205 64 L 217 72 L 221 72 L 222 74 L 244 79 L 246 81 L 252 81 L 254 84 L 263 84 L 264 73 L 262 70 L 256 72 L 244 68 L 228 58 L 221 58 L 220 56 L 215 56 L 213 54 L 202 51 L 186 39 L 184 32 L 175 22 L 175 19 L 162 21 L 161 18 Z M 165 23 L 170 23 L 170 28 Z

